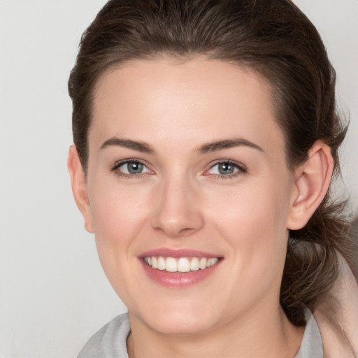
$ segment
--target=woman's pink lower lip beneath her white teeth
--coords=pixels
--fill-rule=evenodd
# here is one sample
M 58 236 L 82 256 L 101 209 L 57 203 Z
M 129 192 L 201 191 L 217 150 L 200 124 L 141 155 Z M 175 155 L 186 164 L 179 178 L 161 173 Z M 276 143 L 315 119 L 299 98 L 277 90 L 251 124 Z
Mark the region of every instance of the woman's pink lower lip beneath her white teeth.
M 152 280 L 159 283 L 160 285 L 169 287 L 187 287 L 189 285 L 194 285 L 197 282 L 201 282 L 202 280 L 208 278 L 208 276 L 212 275 L 221 262 L 222 259 L 219 259 L 215 265 L 204 268 L 203 270 L 199 269 L 197 271 L 189 272 L 167 272 L 165 270 L 152 268 L 148 264 L 145 264 L 143 259 L 141 259 L 145 273 L 147 273 L 147 275 Z

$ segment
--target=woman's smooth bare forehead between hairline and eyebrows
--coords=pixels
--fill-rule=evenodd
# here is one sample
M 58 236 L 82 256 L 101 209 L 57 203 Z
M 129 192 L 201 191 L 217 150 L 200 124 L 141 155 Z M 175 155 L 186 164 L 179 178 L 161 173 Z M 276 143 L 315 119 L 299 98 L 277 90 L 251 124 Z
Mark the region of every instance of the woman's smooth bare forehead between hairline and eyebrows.
M 99 80 L 89 142 L 120 136 L 174 144 L 235 135 L 262 145 L 275 140 L 283 150 L 273 108 L 268 82 L 245 67 L 204 57 L 135 60 Z

